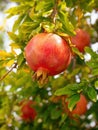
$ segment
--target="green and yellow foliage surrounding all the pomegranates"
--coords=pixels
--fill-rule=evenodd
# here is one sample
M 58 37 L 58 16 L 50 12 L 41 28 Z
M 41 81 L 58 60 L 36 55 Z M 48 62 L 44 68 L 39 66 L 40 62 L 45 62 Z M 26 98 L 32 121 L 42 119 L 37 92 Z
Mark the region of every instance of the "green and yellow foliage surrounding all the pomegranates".
M 98 52 L 91 47 L 79 52 L 70 42 L 74 53 L 70 66 L 40 88 L 32 80 L 24 49 L 28 41 L 40 32 L 52 32 L 69 41 L 76 28 L 86 30 L 91 44 L 98 42 L 97 21 L 90 21 L 93 10 L 98 10 L 97 0 L 11 0 L 17 6 L 6 11 L 8 18 L 17 16 L 13 29 L 8 32 L 11 52 L 0 50 L 0 130 L 97 130 L 98 129 Z M 10 2 L 11 2 L 10 1 Z M 90 59 L 86 60 L 85 55 Z M 70 118 L 63 111 L 61 100 L 53 97 L 67 95 L 72 110 L 79 95 L 88 99 L 85 115 Z M 32 122 L 21 119 L 19 103 L 24 99 L 36 102 L 37 117 Z M 95 125 L 92 127 L 91 123 Z

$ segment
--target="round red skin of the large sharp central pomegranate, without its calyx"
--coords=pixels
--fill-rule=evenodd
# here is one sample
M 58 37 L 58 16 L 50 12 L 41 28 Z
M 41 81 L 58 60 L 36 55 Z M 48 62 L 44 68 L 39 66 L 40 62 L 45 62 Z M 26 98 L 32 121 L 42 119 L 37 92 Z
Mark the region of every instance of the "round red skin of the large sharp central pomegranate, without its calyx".
M 53 33 L 40 33 L 28 42 L 25 57 L 33 71 L 45 70 L 52 76 L 68 67 L 71 51 L 67 42 L 60 36 Z

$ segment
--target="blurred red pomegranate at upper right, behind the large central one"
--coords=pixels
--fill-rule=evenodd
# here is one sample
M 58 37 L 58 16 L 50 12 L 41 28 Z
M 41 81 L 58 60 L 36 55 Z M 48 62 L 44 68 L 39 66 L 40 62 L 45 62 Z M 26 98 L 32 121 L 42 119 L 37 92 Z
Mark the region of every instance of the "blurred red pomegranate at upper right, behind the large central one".
M 84 52 L 84 48 L 90 45 L 90 35 L 82 29 L 77 29 L 76 35 L 71 37 L 71 42 L 80 52 Z

